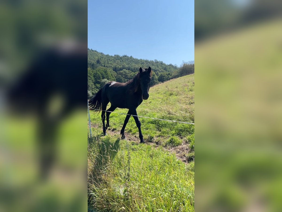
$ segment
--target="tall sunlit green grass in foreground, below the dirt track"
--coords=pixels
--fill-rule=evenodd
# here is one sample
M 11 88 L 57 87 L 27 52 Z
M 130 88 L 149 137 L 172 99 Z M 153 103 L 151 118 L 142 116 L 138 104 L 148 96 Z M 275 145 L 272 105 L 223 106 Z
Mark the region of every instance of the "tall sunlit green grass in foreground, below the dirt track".
M 194 166 L 163 148 L 118 137 L 88 144 L 89 207 L 99 211 L 194 211 Z

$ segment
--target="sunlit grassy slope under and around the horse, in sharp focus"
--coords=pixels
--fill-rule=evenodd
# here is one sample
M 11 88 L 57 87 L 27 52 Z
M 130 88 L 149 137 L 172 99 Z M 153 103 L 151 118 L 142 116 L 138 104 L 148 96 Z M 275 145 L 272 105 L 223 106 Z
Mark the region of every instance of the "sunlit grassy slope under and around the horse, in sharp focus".
M 187 75 L 151 87 L 138 115 L 194 122 L 193 82 L 194 75 Z M 194 211 L 194 125 L 140 118 L 144 145 L 132 117 L 125 128 L 127 140 L 120 140 L 125 115 L 111 113 L 107 136 L 102 136 L 101 114 L 90 111 L 90 116 L 89 208 Z

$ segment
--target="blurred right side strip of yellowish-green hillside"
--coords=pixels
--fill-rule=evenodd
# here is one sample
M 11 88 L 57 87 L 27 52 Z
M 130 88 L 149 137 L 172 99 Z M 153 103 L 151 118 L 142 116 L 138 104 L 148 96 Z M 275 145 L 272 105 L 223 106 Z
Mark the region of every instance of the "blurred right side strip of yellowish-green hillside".
M 195 211 L 282 211 L 281 11 L 195 2 Z

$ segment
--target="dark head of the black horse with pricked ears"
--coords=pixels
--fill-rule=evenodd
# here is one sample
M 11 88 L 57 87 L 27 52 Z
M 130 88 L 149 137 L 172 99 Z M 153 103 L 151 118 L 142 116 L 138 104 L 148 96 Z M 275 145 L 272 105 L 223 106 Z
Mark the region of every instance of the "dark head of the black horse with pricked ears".
M 149 98 L 149 89 L 150 89 L 150 84 L 151 84 L 151 76 L 152 76 L 152 71 L 151 67 L 142 69 L 141 67 L 139 68 L 139 79 L 140 79 L 140 86 L 142 89 L 142 97 L 143 99 L 148 99 Z

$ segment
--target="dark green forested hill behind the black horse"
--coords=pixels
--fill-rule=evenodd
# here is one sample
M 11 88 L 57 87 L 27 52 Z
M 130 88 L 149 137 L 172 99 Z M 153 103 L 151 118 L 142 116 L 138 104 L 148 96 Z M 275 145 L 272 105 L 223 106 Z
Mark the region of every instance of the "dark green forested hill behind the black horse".
M 88 49 L 88 98 L 91 98 L 109 81 L 125 83 L 132 79 L 139 68 L 151 67 L 153 70 L 151 86 L 188 73 L 194 73 L 194 64 L 166 64 L 159 60 L 136 59 L 127 55 L 105 55 Z

